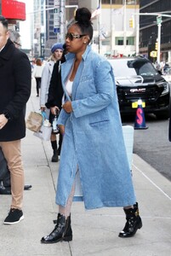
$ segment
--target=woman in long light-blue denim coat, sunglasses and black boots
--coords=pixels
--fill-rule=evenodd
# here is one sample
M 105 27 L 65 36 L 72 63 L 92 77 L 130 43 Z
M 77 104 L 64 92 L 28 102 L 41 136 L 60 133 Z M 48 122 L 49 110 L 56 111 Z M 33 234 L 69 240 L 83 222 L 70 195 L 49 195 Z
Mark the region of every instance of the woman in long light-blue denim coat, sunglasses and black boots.
M 94 53 L 91 13 L 77 9 L 66 33 L 66 62 L 61 79 L 66 102 L 58 124 L 63 132 L 55 202 L 54 230 L 41 242 L 71 241 L 71 203 L 79 173 L 86 209 L 123 207 L 127 222 L 120 237 L 134 236 L 142 227 L 128 166 L 117 90 L 111 64 Z

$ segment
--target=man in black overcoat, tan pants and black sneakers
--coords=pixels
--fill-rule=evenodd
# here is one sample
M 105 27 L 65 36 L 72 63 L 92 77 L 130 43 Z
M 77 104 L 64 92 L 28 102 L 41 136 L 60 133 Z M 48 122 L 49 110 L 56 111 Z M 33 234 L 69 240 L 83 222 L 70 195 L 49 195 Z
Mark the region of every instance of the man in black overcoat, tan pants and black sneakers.
M 26 102 L 31 94 L 31 65 L 27 55 L 9 39 L 8 20 L 0 16 L 0 147 L 11 175 L 12 203 L 3 224 L 16 224 L 22 212 L 24 170 L 20 140 L 26 137 Z

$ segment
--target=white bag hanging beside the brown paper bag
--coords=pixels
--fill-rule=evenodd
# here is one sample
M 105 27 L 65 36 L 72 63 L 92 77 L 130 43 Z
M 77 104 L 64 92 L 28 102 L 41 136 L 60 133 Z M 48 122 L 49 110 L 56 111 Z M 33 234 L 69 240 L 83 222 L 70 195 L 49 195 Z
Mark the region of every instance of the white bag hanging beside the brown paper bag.
M 45 112 L 42 112 L 43 125 L 41 125 L 39 131 L 34 132 L 33 135 L 39 137 L 43 141 L 49 141 L 52 133 L 52 126 L 48 121 L 47 115 Z

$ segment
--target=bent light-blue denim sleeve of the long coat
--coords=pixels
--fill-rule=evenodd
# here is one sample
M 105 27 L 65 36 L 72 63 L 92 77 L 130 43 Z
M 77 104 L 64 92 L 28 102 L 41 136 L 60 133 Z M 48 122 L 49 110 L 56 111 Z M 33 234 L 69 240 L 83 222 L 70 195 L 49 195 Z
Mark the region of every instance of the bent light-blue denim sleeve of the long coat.
M 111 64 L 108 61 L 103 60 L 98 63 L 94 68 L 94 78 L 97 94 L 71 102 L 76 118 L 98 112 L 113 101 L 115 80 Z

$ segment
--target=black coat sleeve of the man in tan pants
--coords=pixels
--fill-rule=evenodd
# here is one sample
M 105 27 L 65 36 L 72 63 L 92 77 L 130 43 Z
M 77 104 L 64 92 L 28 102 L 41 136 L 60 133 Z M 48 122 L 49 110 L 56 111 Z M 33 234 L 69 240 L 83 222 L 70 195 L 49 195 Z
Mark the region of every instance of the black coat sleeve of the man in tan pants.
M 14 56 L 14 97 L 3 109 L 9 113 L 11 119 L 20 117 L 21 111 L 26 108 L 26 102 L 31 95 L 31 64 L 26 54 L 20 51 Z

